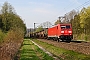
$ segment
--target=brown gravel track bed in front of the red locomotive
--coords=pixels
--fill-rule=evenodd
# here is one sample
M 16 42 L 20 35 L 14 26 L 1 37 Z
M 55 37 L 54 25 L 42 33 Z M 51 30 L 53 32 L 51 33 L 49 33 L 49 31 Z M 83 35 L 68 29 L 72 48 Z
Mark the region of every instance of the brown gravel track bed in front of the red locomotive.
M 73 50 L 79 53 L 90 55 L 90 42 L 71 41 L 70 43 L 67 43 L 67 42 L 57 42 L 57 41 L 45 40 L 45 39 L 38 39 L 38 40 L 46 42 L 48 44 L 52 44 L 60 48 Z

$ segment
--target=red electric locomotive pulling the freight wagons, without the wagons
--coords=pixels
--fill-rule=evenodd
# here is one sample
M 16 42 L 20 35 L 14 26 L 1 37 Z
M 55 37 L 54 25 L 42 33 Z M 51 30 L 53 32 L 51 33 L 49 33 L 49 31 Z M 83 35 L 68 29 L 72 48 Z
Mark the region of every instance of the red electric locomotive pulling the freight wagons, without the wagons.
M 73 39 L 71 24 L 58 24 L 48 28 L 48 38 L 70 42 Z

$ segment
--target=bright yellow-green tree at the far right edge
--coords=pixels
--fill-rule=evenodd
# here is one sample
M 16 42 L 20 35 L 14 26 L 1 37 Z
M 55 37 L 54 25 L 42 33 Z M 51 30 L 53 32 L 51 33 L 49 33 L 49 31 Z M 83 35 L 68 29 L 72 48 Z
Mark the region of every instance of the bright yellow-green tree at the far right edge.
M 80 26 L 84 29 L 83 33 L 86 34 L 90 31 L 90 6 L 87 8 L 83 8 L 80 12 Z

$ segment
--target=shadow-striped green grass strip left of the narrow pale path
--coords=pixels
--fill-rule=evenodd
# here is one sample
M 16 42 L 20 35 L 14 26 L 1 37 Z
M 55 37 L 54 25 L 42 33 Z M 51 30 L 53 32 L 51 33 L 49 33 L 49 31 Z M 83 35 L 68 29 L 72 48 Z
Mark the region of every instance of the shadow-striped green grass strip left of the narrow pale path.
M 20 49 L 20 60 L 54 60 L 29 39 L 25 39 Z

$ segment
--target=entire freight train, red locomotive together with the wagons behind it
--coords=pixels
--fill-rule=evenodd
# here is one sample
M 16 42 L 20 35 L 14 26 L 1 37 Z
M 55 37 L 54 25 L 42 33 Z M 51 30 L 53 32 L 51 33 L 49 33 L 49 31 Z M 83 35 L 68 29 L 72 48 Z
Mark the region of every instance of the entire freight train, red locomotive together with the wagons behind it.
M 51 28 L 45 28 L 40 32 L 36 32 L 34 34 L 30 34 L 31 37 L 37 38 L 45 38 L 45 39 L 53 39 L 70 42 L 73 39 L 73 32 L 71 24 L 57 24 Z

